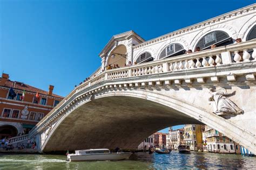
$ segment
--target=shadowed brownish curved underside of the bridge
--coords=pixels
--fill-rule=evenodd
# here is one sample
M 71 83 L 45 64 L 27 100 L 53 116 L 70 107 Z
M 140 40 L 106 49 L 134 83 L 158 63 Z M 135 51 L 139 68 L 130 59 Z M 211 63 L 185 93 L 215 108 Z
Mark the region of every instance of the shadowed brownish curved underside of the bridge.
M 85 148 L 134 149 L 168 126 L 201 122 L 149 100 L 112 96 L 83 104 L 58 126 L 43 152 Z

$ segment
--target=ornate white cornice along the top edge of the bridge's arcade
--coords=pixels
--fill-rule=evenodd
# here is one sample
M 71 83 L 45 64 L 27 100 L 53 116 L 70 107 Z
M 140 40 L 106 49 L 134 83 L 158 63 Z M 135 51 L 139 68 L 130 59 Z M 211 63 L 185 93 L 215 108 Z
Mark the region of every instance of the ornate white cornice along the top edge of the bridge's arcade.
M 171 37 L 177 37 L 181 34 L 185 34 L 185 33 L 188 33 L 188 32 L 194 31 L 194 30 L 198 30 L 198 29 L 201 29 L 203 27 L 213 25 L 215 23 L 220 23 L 220 22 L 223 22 L 223 20 L 230 19 L 230 18 L 240 16 L 240 15 L 244 15 L 245 13 L 255 11 L 255 10 L 256 10 L 256 3 L 254 3 L 252 5 L 249 5 L 249 6 L 246 6 L 244 8 L 238 9 L 238 10 L 234 10 L 234 11 L 225 13 L 225 14 L 220 15 L 218 17 L 208 19 L 204 22 L 194 24 L 192 26 L 185 27 L 184 29 L 180 29 L 180 30 L 165 34 L 164 36 L 160 36 L 160 37 L 145 41 L 141 44 L 133 46 L 133 49 L 138 49 L 140 47 L 145 47 L 147 45 L 150 45 L 150 44 L 153 44 L 155 42 L 159 42 L 159 41 L 162 41 L 162 40 L 165 40 L 165 39 L 169 39 Z

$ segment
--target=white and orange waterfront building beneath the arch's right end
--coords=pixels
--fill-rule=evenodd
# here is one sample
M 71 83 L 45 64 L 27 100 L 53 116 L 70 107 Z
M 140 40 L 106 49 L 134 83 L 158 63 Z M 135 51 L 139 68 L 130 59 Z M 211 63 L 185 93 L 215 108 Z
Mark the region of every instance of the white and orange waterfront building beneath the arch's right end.
M 234 144 L 234 141 L 219 131 L 205 125 L 204 136 L 204 151 L 214 153 L 236 153 L 239 149 L 238 144 Z M 237 151 L 239 153 L 239 151 Z

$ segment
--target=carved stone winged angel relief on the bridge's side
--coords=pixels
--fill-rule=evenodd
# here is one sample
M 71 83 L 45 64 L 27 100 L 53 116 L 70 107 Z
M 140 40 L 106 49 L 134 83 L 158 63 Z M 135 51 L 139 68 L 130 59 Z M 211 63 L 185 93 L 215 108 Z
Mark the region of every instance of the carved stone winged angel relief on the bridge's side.
M 227 90 L 224 88 L 214 90 L 212 88 L 209 89 L 211 97 L 209 98 L 209 102 L 214 109 L 214 113 L 219 116 L 224 115 L 239 115 L 244 114 L 244 110 L 241 110 L 237 104 L 232 102 L 229 98 L 230 95 L 234 95 L 235 91 L 231 93 L 227 93 Z

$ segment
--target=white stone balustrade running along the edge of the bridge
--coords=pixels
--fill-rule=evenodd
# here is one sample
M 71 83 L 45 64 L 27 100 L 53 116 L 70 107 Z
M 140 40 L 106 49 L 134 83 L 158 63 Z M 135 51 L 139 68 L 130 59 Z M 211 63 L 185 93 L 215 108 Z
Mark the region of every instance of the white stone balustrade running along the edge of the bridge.
M 250 53 L 248 52 L 250 51 Z M 239 56 L 240 57 L 239 57 Z M 50 121 L 54 117 L 54 112 L 64 112 L 69 100 L 73 95 L 82 90 L 90 90 L 92 86 L 104 81 L 116 79 L 127 79 L 129 77 L 139 77 L 144 75 L 154 75 L 172 72 L 183 72 L 192 69 L 203 69 L 206 67 L 218 67 L 222 65 L 235 65 L 242 62 L 255 61 L 256 58 L 256 40 L 241 42 L 229 46 L 207 49 L 205 51 L 174 56 L 172 58 L 142 63 L 134 66 L 105 70 L 92 79 L 80 84 L 71 93 L 62 100 L 47 116 L 45 116 L 30 132 L 35 134 L 34 130 L 42 126 L 45 121 Z M 185 72 L 184 72 L 185 74 Z M 67 102 L 67 103 L 66 103 Z

